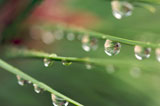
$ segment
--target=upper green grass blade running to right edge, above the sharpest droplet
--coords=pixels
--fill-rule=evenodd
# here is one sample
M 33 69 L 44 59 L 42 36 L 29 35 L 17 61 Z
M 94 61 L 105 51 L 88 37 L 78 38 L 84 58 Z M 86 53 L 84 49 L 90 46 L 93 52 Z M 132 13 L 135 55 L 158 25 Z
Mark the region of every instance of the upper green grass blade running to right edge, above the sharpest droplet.
M 45 30 L 55 30 L 57 28 L 54 25 L 44 25 L 41 27 L 44 28 Z M 126 45 L 131 45 L 131 46 L 139 45 L 142 47 L 160 48 L 160 45 L 158 44 L 129 40 L 129 39 L 120 38 L 120 37 L 116 37 L 116 36 L 108 35 L 108 34 L 102 34 L 99 32 L 90 31 L 90 30 L 86 30 L 83 28 L 73 27 L 73 26 L 58 25 L 57 30 L 58 29 L 68 31 L 68 32 L 78 33 L 78 35 L 82 35 L 82 36 L 88 35 L 90 37 L 95 37 L 95 38 L 104 39 L 104 40 L 110 39 L 112 41 L 119 42 L 119 43 L 126 44 Z

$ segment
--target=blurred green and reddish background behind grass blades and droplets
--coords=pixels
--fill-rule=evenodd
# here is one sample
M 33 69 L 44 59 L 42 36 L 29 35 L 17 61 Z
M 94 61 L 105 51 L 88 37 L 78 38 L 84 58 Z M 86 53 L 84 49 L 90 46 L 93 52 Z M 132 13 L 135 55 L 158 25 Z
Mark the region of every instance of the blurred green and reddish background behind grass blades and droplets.
M 9 59 L 1 55 L 3 59 L 85 106 L 160 106 L 160 63 L 154 50 L 151 58 L 138 61 L 132 46 L 122 44 L 120 54 L 109 57 L 104 53 L 104 40 L 99 39 L 96 51 L 85 52 L 81 41 L 69 41 L 66 35 L 64 39 L 47 45 L 42 40 L 32 39 L 29 33 L 30 28 L 36 25 L 67 23 L 117 37 L 158 44 L 159 5 L 153 4 L 156 8 L 154 14 L 143 7 L 135 7 L 133 15 L 122 20 L 113 17 L 110 2 L 105 0 L 44 0 L 39 6 L 39 10 L 30 13 L 28 19 L 23 20 L 25 22 L 22 21 L 23 26 L 16 27 L 19 33 L 15 34 L 14 39 L 23 39 L 22 45 L 25 47 L 60 56 L 103 58 L 106 59 L 106 67 L 113 66 L 115 72 L 110 74 L 102 66 L 92 66 L 88 70 L 83 63 L 63 66 L 55 62 L 52 67 L 46 68 L 43 59 Z M 140 70 L 138 77 L 131 74 L 135 67 Z M 0 106 L 22 105 L 52 106 L 50 94 L 36 94 L 32 85 L 19 86 L 15 75 L 1 69 Z

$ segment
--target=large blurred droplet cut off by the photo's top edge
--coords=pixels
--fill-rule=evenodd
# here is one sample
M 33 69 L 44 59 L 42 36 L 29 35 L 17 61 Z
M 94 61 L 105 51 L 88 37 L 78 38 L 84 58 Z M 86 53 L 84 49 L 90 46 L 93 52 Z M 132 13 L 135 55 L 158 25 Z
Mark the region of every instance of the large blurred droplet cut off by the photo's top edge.
M 129 2 L 113 0 L 111 5 L 113 15 L 117 19 L 132 15 L 133 5 Z

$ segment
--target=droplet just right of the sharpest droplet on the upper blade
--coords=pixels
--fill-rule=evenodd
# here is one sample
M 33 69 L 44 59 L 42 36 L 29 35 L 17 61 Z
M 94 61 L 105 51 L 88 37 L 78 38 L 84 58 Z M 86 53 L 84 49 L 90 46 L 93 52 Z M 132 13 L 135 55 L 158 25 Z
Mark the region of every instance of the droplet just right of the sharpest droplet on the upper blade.
M 143 60 L 145 58 L 150 57 L 151 48 L 146 48 L 146 47 L 141 47 L 139 45 L 136 45 L 134 48 L 134 52 L 135 52 L 135 57 L 138 60 Z

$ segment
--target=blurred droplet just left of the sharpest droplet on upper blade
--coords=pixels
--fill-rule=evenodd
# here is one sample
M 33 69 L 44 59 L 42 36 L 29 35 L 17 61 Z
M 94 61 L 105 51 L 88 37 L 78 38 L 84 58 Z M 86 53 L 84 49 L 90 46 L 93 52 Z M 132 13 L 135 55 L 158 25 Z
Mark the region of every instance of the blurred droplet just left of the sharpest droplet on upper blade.
M 88 35 L 82 37 L 82 48 L 86 52 L 90 50 L 96 50 L 98 48 L 97 39 L 96 38 L 89 38 Z

